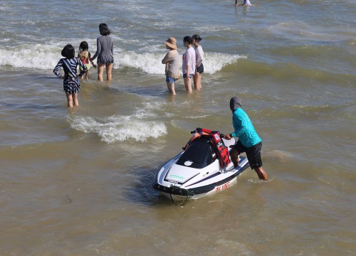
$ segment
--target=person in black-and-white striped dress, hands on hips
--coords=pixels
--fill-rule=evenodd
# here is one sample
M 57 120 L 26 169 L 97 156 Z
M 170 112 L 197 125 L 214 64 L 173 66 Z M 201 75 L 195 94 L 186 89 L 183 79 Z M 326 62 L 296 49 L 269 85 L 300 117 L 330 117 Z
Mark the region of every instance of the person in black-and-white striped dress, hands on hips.
M 68 107 L 78 106 L 78 97 L 77 94 L 80 89 L 80 84 L 77 75 L 77 67 L 83 68 L 80 71 L 79 77 L 83 76 L 85 72 L 87 72 L 88 68 L 84 65 L 78 57 L 75 56 L 74 47 L 71 44 L 66 45 L 62 50 L 62 56 L 65 58 L 61 58 L 56 65 L 56 68 L 53 69 L 53 73 L 55 73 L 58 78 L 63 79 L 63 90 L 66 92 L 66 97 L 68 100 Z M 64 76 L 62 76 L 58 70 L 63 68 Z

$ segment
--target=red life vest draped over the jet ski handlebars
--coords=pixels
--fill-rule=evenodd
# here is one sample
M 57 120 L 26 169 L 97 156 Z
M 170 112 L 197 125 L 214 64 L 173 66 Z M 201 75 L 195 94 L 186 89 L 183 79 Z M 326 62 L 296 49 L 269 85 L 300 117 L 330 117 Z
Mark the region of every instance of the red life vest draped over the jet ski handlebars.
M 213 144 L 214 149 L 216 151 L 216 155 L 219 158 L 221 168 L 226 168 L 230 164 L 230 154 L 229 149 L 225 146 L 224 142 L 221 139 L 221 134 L 218 131 L 211 131 L 209 129 L 197 128 L 194 132 L 192 132 L 192 137 L 189 139 L 189 142 L 186 146 L 184 146 L 184 150 L 188 149 L 188 147 L 199 137 L 206 136 L 210 138 L 211 144 Z

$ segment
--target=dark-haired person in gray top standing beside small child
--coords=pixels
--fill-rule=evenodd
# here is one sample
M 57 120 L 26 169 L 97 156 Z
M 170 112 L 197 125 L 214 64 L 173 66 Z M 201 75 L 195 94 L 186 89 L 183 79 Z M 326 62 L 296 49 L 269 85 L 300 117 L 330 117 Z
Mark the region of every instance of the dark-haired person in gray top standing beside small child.
M 96 40 L 96 53 L 90 61 L 98 57 L 98 80 L 103 81 L 104 66 L 106 68 L 106 79 L 111 80 L 111 70 L 114 63 L 114 41 L 110 36 L 110 29 L 105 23 L 99 25 L 100 37 Z

